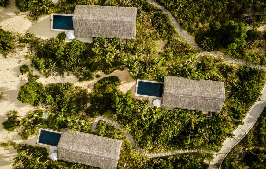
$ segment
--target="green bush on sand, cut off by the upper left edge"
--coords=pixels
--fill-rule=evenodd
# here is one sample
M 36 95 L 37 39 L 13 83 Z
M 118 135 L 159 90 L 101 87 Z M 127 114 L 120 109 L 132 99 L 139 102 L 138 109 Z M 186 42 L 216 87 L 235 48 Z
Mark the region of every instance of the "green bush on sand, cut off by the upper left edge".
M 0 53 L 6 55 L 12 48 L 13 45 L 13 37 L 12 33 L 9 31 L 5 31 L 0 26 Z

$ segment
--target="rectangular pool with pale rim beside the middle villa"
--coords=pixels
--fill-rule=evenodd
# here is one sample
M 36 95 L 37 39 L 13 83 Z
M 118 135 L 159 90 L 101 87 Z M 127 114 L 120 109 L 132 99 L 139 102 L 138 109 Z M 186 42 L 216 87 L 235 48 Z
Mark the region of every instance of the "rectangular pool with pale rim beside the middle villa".
M 164 83 L 149 80 L 137 80 L 136 96 L 161 98 L 163 96 L 163 89 Z

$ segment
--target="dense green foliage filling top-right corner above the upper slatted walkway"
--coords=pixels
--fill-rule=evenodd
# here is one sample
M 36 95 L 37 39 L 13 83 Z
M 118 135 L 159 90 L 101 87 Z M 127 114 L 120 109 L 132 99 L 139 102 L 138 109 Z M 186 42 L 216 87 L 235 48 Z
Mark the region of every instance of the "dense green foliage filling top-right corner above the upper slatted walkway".
M 262 0 L 156 0 L 164 5 L 180 25 L 195 34 L 195 40 L 207 51 L 248 62 L 266 64 L 266 42 L 257 27 L 266 21 L 266 2 Z M 251 27 L 248 32 L 246 26 Z

